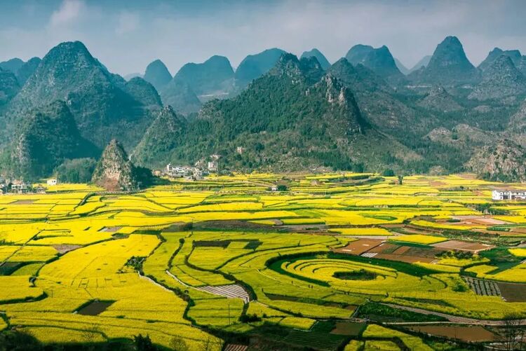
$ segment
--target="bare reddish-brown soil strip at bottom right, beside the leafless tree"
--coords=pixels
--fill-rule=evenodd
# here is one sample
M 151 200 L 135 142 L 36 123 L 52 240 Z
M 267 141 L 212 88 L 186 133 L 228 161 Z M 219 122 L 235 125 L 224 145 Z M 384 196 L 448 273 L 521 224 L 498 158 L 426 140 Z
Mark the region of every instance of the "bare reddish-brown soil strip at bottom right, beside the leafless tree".
M 410 326 L 409 329 L 468 342 L 493 341 L 497 338 L 483 326 Z

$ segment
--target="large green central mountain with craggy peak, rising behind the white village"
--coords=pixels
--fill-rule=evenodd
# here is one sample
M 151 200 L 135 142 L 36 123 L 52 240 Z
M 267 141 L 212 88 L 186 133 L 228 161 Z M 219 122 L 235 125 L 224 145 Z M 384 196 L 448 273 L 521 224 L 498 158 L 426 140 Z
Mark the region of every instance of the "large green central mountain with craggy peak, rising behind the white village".
M 188 163 L 220 153 L 222 165 L 236 169 L 359 169 L 365 155 L 381 148 L 411 154 L 371 127 L 351 90 L 325 74 L 315 57 L 298 60 L 283 54 L 240 95 L 204 104 L 188 123 L 165 112 L 134 152 L 141 164 Z M 168 132 L 161 127 L 165 123 Z M 236 153 L 237 146 L 245 148 L 243 155 Z M 145 158 L 148 153 L 154 156 Z M 368 164 L 379 167 L 382 162 L 370 159 Z

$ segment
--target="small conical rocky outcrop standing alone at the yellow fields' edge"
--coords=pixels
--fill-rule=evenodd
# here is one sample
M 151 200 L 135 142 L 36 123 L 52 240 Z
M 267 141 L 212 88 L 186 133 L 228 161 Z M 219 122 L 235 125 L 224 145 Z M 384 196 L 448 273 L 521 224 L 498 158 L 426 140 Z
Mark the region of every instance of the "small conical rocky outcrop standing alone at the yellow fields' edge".
M 104 149 L 91 181 L 108 191 L 132 191 L 139 188 L 135 167 L 116 139 Z

